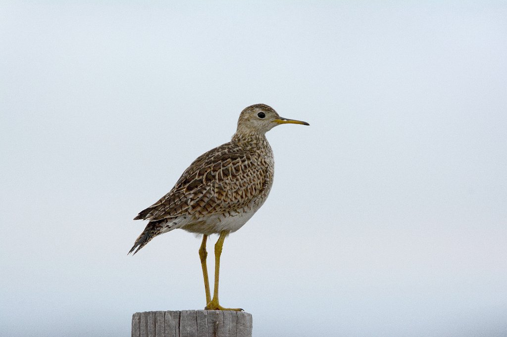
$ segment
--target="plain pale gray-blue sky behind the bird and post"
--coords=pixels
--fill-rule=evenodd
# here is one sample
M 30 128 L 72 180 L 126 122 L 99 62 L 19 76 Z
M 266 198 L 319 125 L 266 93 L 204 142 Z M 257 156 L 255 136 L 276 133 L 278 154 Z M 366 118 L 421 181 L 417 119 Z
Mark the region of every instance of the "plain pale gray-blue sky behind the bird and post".
M 256 336 L 506 335 L 506 22 L 484 1 L 2 2 L 0 334 L 202 309 L 199 239 L 127 256 L 132 218 L 266 103 L 311 126 L 268 133 L 223 305 Z

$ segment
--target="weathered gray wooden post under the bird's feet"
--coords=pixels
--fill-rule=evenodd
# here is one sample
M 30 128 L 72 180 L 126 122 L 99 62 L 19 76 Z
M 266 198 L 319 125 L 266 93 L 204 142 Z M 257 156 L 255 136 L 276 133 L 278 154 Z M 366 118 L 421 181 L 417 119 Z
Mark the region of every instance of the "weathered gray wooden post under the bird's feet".
M 132 315 L 132 337 L 251 337 L 252 315 L 231 310 L 145 311 Z

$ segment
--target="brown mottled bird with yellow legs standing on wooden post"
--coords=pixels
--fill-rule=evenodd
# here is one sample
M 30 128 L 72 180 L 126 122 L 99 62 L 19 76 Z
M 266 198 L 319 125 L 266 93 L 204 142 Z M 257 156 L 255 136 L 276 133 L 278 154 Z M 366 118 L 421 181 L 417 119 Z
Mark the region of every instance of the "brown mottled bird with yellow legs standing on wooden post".
M 242 310 L 224 308 L 219 303 L 220 256 L 225 238 L 240 229 L 268 197 L 273 185 L 274 158 L 266 133 L 280 124 L 310 125 L 280 117 L 266 104 L 246 107 L 230 142 L 197 157 L 169 193 L 134 218 L 149 222 L 128 254 L 136 254 L 154 237 L 174 229 L 203 235 L 199 258 L 205 310 Z M 206 266 L 206 241 L 211 234 L 219 235 L 214 245 L 213 298 Z

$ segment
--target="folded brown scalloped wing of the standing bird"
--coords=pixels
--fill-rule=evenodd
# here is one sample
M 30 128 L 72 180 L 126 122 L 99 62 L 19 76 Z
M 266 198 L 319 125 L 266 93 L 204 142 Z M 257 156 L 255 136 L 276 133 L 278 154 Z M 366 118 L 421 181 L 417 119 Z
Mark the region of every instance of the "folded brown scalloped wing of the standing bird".
M 156 221 L 186 215 L 197 220 L 241 209 L 263 193 L 267 197 L 272 165 L 266 158 L 270 156 L 258 149 L 245 149 L 234 143 L 216 147 L 194 160 L 171 191 L 134 220 Z

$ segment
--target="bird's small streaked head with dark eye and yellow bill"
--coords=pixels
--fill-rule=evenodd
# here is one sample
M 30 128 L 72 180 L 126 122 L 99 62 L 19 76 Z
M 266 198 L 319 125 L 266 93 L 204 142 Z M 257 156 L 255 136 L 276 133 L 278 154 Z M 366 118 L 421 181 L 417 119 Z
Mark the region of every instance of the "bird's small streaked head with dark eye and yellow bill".
M 238 130 L 236 133 L 265 134 L 276 127 L 276 125 L 280 124 L 310 125 L 301 120 L 280 117 L 272 107 L 266 104 L 254 104 L 241 111 L 238 119 Z

